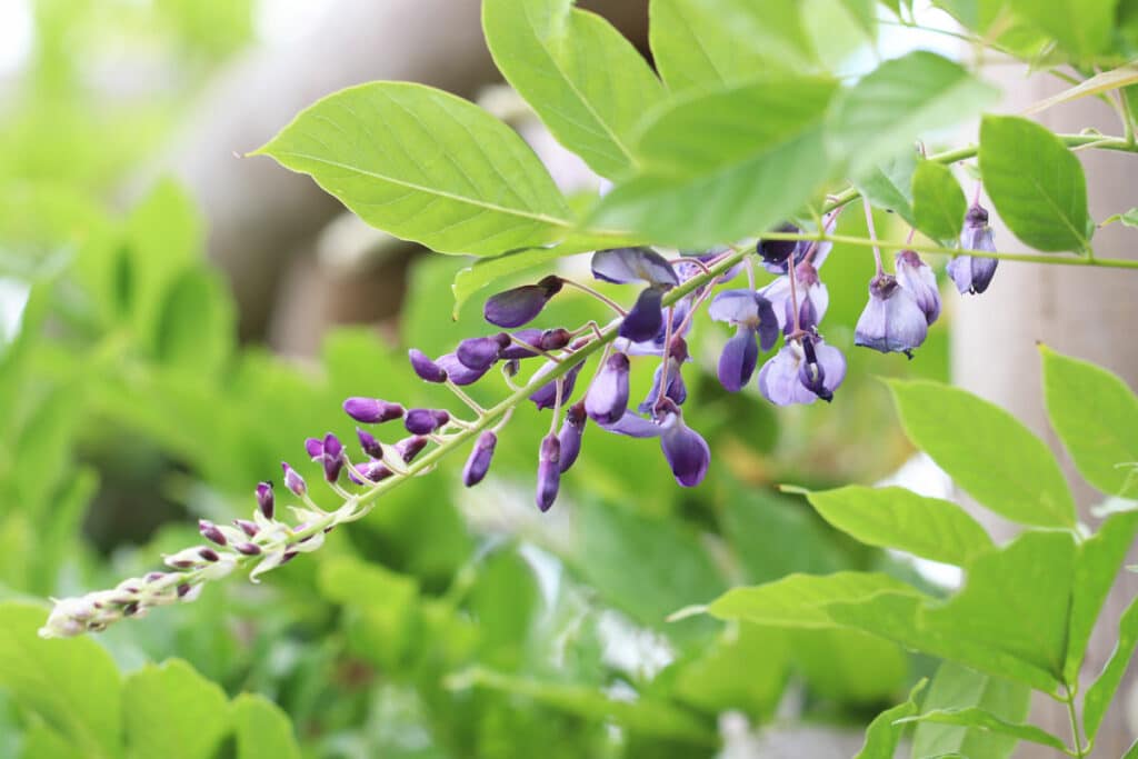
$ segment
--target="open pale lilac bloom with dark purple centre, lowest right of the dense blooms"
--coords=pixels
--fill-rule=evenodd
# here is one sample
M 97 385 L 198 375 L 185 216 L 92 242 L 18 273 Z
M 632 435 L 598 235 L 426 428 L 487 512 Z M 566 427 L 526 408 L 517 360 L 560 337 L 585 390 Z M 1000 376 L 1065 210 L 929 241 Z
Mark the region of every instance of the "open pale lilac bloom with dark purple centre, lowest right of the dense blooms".
M 846 358 L 841 350 L 809 335 L 787 340 L 759 370 L 759 393 L 770 403 L 831 401 L 846 379 Z

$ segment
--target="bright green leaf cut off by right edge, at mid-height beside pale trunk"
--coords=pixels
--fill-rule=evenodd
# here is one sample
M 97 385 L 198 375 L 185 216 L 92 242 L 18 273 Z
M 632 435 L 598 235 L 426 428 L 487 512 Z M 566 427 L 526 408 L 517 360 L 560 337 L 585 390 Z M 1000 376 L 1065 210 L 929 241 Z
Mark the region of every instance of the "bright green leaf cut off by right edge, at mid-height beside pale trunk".
M 1052 427 L 1087 481 L 1107 495 L 1138 494 L 1138 397 L 1118 374 L 1039 347 Z

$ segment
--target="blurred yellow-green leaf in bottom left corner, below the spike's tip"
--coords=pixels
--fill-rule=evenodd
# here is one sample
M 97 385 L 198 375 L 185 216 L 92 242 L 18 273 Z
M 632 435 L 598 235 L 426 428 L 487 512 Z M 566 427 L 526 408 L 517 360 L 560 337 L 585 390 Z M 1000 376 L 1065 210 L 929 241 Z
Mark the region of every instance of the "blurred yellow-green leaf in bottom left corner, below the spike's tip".
M 122 685 L 110 655 L 89 637 L 44 641 L 48 612 L 0 603 L 0 687 L 80 756 L 122 756 Z

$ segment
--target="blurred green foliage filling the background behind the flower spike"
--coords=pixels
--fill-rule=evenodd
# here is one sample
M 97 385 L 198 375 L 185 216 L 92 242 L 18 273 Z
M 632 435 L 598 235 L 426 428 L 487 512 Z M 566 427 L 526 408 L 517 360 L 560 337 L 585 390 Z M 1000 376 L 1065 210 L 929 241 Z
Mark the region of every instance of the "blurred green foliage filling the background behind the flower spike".
M 752 726 L 863 724 L 927 671 L 852 632 L 666 621 L 728 586 L 789 572 L 914 575 L 777 490 L 894 471 L 909 449 L 874 374 L 947 374 L 946 320 L 913 362 L 852 350 L 872 261 L 841 247 L 826 266 L 826 337 L 850 373 L 832 406 L 784 410 L 754 388 L 726 394 L 714 370 L 727 332 L 695 325 L 688 421 L 715 451 L 698 489 L 675 486 L 654 443 L 593 429 L 561 501 L 542 515 L 531 488 L 547 416 L 525 409 L 479 488 L 464 492 L 461 462 L 447 462 L 264 585 L 234 578 L 93 643 L 31 640 L 40 616 L 19 604 L 46 613 L 46 596 L 155 568 L 163 551 L 196 539 L 197 518 L 246 515 L 254 485 L 282 459 L 314 475 L 302 440 L 354 437 L 345 396 L 442 402 L 414 381 L 406 348 L 435 355 L 486 329 L 477 303 L 451 319 L 450 284 L 467 262 L 422 255 L 402 313 L 379 329 L 331 330 L 304 360 L 239 345 L 228 284 L 204 257 L 207 224 L 187 193 L 159 181 L 130 207 L 119 198 L 187 98 L 253 41 L 255 7 L 26 8 L 34 44 L 6 75 L 0 108 L 0 665 L 41 666 L 34 682 L 0 675 L 0 754 L 79 756 L 68 751 L 84 745 L 83 725 L 117 718 L 107 709 L 121 690 L 126 737 L 113 731 L 107 756 L 115 741 L 158 756 L 147 752 L 168 735 L 148 742 L 130 707 L 164 693 L 196 704 L 168 708 L 171 731 L 233 726 L 174 756 L 262 756 L 257 742 L 278 739 L 286 748 L 272 756 L 712 756 L 724 712 Z M 156 79 L 115 92 L 115 72 L 139 56 L 160 63 L 148 68 Z M 861 233 L 857 214 L 842 223 Z M 576 259 L 562 265 L 583 271 Z M 542 323 L 593 316 L 593 302 L 567 291 Z M 634 396 L 649 369 L 634 373 Z M 472 393 L 489 401 L 503 390 Z M 154 665 L 172 658 L 188 667 Z M 106 676 L 75 677 L 96 670 Z M 56 719 L 64 707 L 35 688 L 56 688 L 75 713 Z M 242 692 L 278 704 L 295 739 L 280 712 Z M 257 720 L 274 727 L 257 732 Z

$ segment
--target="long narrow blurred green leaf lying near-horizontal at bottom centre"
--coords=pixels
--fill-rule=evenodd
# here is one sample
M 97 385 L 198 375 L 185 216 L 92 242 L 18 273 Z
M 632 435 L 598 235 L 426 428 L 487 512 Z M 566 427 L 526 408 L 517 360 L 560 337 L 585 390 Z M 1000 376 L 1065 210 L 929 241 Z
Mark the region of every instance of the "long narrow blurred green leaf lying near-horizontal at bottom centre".
M 516 677 L 483 667 L 453 675 L 451 688 L 485 687 L 533 699 L 592 721 L 612 721 L 630 733 L 670 737 L 703 745 L 716 744 L 715 731 L 693 715 L 670 703 L 641 696 L 635 701 L 612 699 L 603 691 L 561 683 Z

